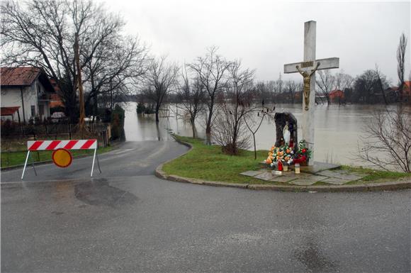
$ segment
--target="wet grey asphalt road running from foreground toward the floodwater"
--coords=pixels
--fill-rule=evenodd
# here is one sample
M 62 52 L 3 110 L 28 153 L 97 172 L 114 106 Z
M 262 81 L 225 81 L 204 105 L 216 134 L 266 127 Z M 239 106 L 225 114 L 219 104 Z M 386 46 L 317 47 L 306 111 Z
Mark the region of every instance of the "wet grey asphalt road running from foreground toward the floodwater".
M 167 182 L 187 148 L 125 143 L 1 173 L 1 272 L 410 272 L 411 191 L 283 193 Z M 45 180 L 55 180 L 45 182 Z

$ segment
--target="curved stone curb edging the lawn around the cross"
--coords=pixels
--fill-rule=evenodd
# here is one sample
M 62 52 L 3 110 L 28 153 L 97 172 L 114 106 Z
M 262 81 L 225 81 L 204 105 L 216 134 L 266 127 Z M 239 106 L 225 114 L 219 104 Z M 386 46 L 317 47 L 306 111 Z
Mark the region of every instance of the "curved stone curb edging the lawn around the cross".
M 193 146 L 190 143 L 174 138 L 177 143 L 189 147 L 183 155 L 193 150 Z M 179 157 L 183 156 L 180 155 Z M 176 157 L 176 158 L 179 158 Z M 370 183 L 370 184 L 352 184 L 352 185 L 338 185 L 338 186 L 288 186 L 288 185 L 271 185 L 271 184 L 240 184 L 240 183 L 225 183 L 207 181 L 202 179 L 193 179 L 188 177 L 179 177 L 178 175 L 167 174 L 163 171 L 164 164 L 175 160 L 168 160 L 167 162 L 159 165 L 155 170 L 155 176 L 160 179 L 165 179 L 173 182 L 200 184 L 207 186 L 229 186 L 232 188 L 240 189 L 254 189 L 254 190 L 272 190 L 272 191 L 293 191 L 293 192 L 354 192 L 354 191 L 394 191 L 400 189 L 411 189 L 411 181 L 397 181 L 397 182 L 383 182 L 383 183 Z

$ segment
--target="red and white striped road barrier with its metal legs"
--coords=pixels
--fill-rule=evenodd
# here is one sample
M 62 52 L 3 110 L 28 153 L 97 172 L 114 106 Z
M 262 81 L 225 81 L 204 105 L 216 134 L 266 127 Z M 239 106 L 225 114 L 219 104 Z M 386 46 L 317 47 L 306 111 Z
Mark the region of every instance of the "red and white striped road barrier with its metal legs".
M 30 152 L 34 151 L 47 151 L 47 150 L 57 150 L 57 149 L 65 149 L 65 150 L 94 150 L 94 157 L 93 157 L 93 165 L 91 165 L 91 177 L 93 176 L 94 170 L 94 161 L 97 158 L 98 169 L 100 170 L 100 162 L 98 162 L 97 156 L 97 140 L 34 140 L 27 142 L 27 157 L 26 162 L 24 163 L 23 167 L 23 174 L 21 174 L 21 179 L 23 179 L 24 172 L 26 171 L 26 165 L 28 161 L 28 156 Z M 33 169 L 35 175 L 35 167 L 33 164 Z

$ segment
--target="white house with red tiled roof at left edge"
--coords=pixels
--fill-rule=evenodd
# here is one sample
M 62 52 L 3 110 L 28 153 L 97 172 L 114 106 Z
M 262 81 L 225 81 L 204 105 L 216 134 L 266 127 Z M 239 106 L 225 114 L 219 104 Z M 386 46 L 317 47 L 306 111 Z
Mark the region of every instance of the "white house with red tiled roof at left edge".
M 1 120 L 28 122 L 50 117 L 55 89 L 38 67 L 0 67 Z

